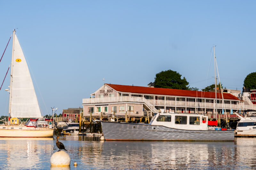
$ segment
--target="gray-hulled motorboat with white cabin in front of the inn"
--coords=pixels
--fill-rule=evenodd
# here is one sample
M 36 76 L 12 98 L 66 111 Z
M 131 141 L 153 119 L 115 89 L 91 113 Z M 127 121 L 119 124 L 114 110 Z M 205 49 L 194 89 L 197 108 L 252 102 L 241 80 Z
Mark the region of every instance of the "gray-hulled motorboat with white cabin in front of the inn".
M 149 124 L 101 121 L 106 140 L 233 141 L 233 130 L 208 130 L 208 117 L 190 113 L 157 113 Z

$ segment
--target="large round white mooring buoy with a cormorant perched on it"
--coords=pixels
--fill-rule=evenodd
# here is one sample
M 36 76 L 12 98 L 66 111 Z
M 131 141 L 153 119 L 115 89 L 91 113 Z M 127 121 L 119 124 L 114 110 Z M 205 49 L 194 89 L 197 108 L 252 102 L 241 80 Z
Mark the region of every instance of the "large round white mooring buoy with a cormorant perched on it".
M 52 166 L 70 166 L 70 157 L 67 152 L 59 151 L 52 154 Z

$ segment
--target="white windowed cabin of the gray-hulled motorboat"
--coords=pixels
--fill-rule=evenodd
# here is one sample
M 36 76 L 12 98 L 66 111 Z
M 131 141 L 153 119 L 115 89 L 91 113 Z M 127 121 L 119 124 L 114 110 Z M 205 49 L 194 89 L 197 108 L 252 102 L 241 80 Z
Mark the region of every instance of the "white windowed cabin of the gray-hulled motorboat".
M 208 117 L 188 113 L 157 113 L 150 124 L 163 125 L 174 129 L 206 131 Z

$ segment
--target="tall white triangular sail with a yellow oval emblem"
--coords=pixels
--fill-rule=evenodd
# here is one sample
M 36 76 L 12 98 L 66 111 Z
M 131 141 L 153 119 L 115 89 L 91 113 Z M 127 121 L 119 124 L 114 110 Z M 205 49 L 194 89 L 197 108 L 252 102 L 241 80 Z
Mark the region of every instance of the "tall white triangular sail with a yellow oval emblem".
M 28 65 L 15 33 L 13 39 L 10 115 L 11 117 L 41 117 Z

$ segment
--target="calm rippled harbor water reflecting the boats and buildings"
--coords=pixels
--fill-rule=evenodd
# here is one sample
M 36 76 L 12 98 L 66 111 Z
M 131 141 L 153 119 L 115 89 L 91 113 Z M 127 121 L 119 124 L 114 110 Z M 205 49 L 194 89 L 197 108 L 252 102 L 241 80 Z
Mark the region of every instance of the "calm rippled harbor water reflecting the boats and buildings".
M 51 167 L 54 138 L 0 138 L 0 169 L 253 169 L 256 138 L 234 142 L 100 141 L 61 136 L 70 167 Z M 74 162 L 78 166 L 74 167 Z

